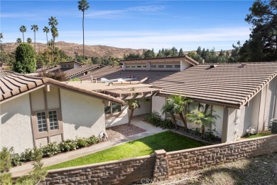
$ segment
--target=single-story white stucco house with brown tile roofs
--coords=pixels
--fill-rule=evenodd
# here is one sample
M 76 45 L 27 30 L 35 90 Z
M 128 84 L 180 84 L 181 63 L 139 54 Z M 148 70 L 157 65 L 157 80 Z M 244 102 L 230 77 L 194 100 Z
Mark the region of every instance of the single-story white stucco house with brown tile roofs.
M 123 67 L 82 75 L 81 81 L 18 74 L 2 78 L 0 147 L 22 152 L 48 142 L 98 136 L 128 122 L 126 100 L 138 100 L 134 115 L 161 114 L 173 94 L 194 100 L 189 110 L 212 105 L 220 118 L 211 128 L 217 128 L 222 142 L 235 141 L 250 126 L 268 129 L 269 120 L 277 117 L 277 63 L 198 64 L 188 56 L 121 63 Z M 182 126 L 180 120 L 178 124 Z

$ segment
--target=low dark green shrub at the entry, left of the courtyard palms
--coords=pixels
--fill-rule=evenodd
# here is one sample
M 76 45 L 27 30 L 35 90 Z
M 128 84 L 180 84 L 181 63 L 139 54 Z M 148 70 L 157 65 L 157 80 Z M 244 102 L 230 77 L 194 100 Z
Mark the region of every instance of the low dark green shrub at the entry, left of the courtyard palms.
M 153 111 L 146 115 L 145 120 L 156 127 L 161 127 L 163 129 L 173 128 L 173 122 L 166 118 L 163 120 L 161 115 L 159 115 L 156 111 Z

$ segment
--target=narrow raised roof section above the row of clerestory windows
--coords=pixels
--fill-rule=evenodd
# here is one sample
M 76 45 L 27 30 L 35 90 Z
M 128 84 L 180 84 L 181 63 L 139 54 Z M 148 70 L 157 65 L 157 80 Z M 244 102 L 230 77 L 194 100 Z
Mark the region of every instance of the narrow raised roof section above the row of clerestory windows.
M 188 63 L 192 64 L 192 65 L 198 65 L 199 63 L 197 63 L 197 61 L 193 60 L 192 58 L 188 57 L 188 56 L 175 56 L 175 57 L 163 57 L 163 58 L 138 58 L 138 59 L 131 59 L 131 60 L 121 60 L 121 63 L 136 63 L 138 61 L 143 62 L 143 60 L 146 61 L 151 61 L 151 62 L 163 62 L 163 60 L 186 60 Z

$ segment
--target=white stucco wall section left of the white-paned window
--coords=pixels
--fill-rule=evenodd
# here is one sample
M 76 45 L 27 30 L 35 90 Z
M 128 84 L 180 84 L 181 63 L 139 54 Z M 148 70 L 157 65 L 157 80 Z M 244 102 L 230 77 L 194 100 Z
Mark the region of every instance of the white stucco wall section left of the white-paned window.
M 2 103 L 0 112 L 0 148 L 13 147 L 15 153 L 33 148 L 29 95 Z

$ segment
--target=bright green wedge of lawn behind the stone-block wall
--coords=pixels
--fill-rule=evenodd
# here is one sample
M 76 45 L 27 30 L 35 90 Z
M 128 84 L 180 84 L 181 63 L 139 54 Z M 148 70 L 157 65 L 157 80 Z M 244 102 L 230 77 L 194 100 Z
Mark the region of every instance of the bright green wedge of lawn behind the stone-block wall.
M 207 144 L 195 141 L 180 134 L 175 134 L 174 132 L 166 131 L 127 142 L 116 147 L 104 149 L 103 151 L 73 159 L 68 162 L 48 166 L 46 169 L 60 169 L 70 166 L 108 162 L 116 159 L 139 157 L 153 154 L 157 149 L 164 149 L 166 152 L 171 152 L 180 149 L 202 147 L 205 145 Z

